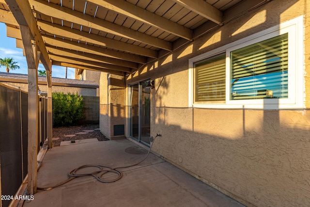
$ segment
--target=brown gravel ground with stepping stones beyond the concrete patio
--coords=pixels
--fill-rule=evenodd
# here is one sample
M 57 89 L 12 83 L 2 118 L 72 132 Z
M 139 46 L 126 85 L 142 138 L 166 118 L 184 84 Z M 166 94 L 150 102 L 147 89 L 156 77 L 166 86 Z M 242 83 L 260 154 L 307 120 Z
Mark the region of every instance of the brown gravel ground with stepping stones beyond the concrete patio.
M 77 134 L 79 132 L 86 132 L 84 130 L 93 130 L 93 132 L 88 132 L 86 134 Z M 75 135 L 75 136 L 74 137 L 66 137 L 65 135 Z M 59 138 L 59 139 L 57 139 L 57 138 Z M 73 127 L 54 127 L 53 128 L 52 146 L 53 147 L 60 146 L 60 143 L 62 141 L 84 140 L 84 139 L 93 139 L 93 138 L 98 139 L 99 142 L 109 140 L 106 136 L 104 136 L 100 132 L 99 125 L 83 125 L 83 126 L 73 126 Z

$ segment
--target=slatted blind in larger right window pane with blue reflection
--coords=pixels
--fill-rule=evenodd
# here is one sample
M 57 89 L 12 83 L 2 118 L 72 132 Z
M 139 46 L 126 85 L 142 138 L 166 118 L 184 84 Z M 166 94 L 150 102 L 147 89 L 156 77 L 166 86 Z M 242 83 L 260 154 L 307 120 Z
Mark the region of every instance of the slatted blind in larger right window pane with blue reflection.
M 231 99 L 288 98 L 288 33 L 231 52 Z

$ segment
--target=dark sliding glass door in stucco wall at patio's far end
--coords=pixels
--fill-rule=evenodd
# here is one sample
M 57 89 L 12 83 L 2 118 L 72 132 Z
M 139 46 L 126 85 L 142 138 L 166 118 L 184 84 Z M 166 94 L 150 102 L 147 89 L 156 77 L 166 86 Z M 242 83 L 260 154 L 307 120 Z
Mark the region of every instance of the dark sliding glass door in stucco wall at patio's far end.
M 151 89 L 149 80 L 129 86 L 129 136 L 150 145 Z

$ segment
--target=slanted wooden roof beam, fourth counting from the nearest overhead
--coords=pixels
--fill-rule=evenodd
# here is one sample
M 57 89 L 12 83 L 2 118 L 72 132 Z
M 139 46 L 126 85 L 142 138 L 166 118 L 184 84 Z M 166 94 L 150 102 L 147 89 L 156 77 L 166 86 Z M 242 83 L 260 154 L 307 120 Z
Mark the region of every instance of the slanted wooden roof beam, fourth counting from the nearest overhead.
M 71 29 L 69 27 L 53 24 L 47 21 L 38 20 L 38 26 L 42 31 L 50 34 L 56 34 L 58 36 L 68 37 L 83 42 L 92 43 L 107 48 L 122 50 L 151 58 L 158 57 L 157 51 L 153 49 L 142 48 L 136 45 L 124 43 L 122 41 L 113 40 L 100 35 L 91 34 L 89 32 L 83 32 L 80 30 Z

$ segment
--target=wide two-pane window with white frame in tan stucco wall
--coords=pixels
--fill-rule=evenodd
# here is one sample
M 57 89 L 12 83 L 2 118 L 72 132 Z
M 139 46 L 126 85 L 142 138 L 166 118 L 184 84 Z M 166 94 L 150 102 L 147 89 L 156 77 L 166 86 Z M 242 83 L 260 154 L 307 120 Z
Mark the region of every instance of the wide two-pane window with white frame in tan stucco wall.
M 303 18 L 189 60 L 189 105 L 302 109 Z

